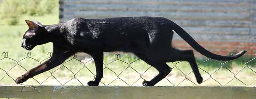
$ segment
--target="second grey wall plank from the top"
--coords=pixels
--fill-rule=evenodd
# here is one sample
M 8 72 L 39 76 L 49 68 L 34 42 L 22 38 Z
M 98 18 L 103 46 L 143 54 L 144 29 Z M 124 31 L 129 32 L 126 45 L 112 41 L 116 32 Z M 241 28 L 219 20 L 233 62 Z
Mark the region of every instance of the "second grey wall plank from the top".
M 75 6 L 75 7 L 74 7 Z M 65 4 L 69 11 L 152 11 L 152 12 L 247 12 L 248 7 L 144 5 L 144 4 Z

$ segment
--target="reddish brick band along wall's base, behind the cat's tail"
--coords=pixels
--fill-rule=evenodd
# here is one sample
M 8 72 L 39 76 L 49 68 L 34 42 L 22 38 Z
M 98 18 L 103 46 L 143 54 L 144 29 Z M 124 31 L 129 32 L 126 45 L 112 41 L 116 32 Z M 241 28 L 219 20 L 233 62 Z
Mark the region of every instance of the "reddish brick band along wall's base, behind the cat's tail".
M 255 55 L 256 53 L 256 43 L 218 41 L 197 41 L 197 43 L 202 45 L 206 50 L 219 55 L 230 55 L 231 53 L 237 53 L 242 50 L 247 51 L 245 55 Z M 173 41 L 172 44 L 180 50 L 194 50 L 185 41 Z M 195 50 L 194 53 L 196 57 L 202 57 L 202 55 Z

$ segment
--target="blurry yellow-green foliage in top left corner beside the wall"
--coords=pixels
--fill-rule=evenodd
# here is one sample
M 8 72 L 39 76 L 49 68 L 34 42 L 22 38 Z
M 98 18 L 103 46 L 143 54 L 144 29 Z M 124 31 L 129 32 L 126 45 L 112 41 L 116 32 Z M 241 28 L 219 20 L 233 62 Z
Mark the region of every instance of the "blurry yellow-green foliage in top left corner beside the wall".
M 18 25 L 23 15 L 42 16 L 59 12 L 59 0 L 3 0 L 0 2 L 1 23 Z

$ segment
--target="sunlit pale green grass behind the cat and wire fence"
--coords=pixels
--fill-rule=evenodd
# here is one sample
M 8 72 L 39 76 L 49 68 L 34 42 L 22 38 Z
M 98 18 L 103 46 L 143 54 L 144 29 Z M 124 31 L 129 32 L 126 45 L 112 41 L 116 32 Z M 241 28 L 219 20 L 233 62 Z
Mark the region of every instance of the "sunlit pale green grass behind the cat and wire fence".
M 21 18 L 19 19 L 19 24 L 16 26 L 5 25 L 3 21 L 0 21 L 0 45 L 1 45 L 0 52 L 8 52 L 8 57 L 16 60 L 15 62 L 14 60 L 4 58 L 4 56 L 2 56 L 2 58 L 4 59 L 0 60 L 0 68 L 5 71 L 10 70 L 8 71 L 7 74 L 11 76 L 11 78 L 13 79 L 24 74 L 26 70 L 29 70 L 37 66 L 39 62 L 43 61 L 44 59 L 49 58 L 49 55 L 47 55 L 47 53 L 52 52 L 52 44 L 48 43 L 44 45 L 38 45 L 32 51 L 30 51 L 31 58 L 27 58 L 27 56 L 24 55 L 25 52 L 27 51 L 22 47 L 20 47 L 20 45 L 21 45 L 22 36 L 25 33 L 25 31 L 28 29 L 25 23 L 25 19 L 37 20 L 42 24 L 55 24 L 59 22 L 58 13 L 48 14 L 44 16 L 24 15 L 20 17 Z M 38 60 L 39 62 L 32 58 Z M 206 59 L 197 60 L 197 63 L 199 63 L 199 67 L 204 70 L 203 71 L 200 69 L 200 72 L 204 78 L 204 83 L 201 85 L 220 85 L 219 83 L 221 83 L 222 85 L 225 85 L 230 80 L 231 82 L 228 83 L 227 85 L 244 85 L 237 79 L 240 79 L 246 85 L 251 84 L 256 79 L 256 73 L 252 71 L 252 70 L 256 71 L 256 68 L 255 68 L 256 60 L 253 60 L 252 62 L 249 62 L 247 64 L 249 68 L 248 67 L 244 68 L 244 65 L 245 65 L 244 62 L 248 62 L 250 59 L 252 58 L 244 57 L 244 58 L 240 58 L 238 60 L 234 60 L 226 63 L 215 61 L 215 60 L 208 60 L 204 62 Z M 68 60 L 63 65 L 53 68 L 52 70 L 50 70 L 50 72 L 47 71 L 47 72 L 44 72 L 43 74 L 35 76 L 34 79 L 37 80 L 39 83 L 42 83 L 44 82 L 45 79 L 49 77 L 44 83 L 42 83 L 44 85 L 61 85 L 61 84 L 65 84 L 69 80 L 70 81 L 65 85 L 81 85 L 81 83 L 83 85 L 87 85 L 88 81 L 94 79 L 95 66 L 94 66 L 93 60 L 87 63 L 86 62 L 81 63 L 76 59 L 72 59 L 72 57 L 69 58 Z M 143 79 L 150 80 L 155 75 L 158 74 L 155 68 L 149 66 L 142 60 L 138 60 L 138 58 L 132 54 L 121 54 L 121 58 L 118 60 L 115 58 L 114 54 L 105 55 L 104 63 L 105 65 L 103 67 L 105 69 L 104 69 L 104 78 L 102 79 L 102 82 L 106 85 L 108 85 L 110 82 L 113 81 L 109 85 L 127 86 L 127 84 L 129 84 L 132 86 L 141 86 Z M 166 77 L 166 79 L 163 79 L 161 82 L 159 82 L 157 86 L 173 86 L 173 84 L 175 86 L 176 85 L 194 86 L 195 84 L 198 85 L 196 83 L 193 73 L 191 73 L 192 69 L 187 62 L 174 62 L 174 63 L 168 63 L 168 65 L 171 68 L 173 68 L 172 72 Z M 219 68 L 221 65 L 223 67 Z M 21 66 L 24 67 L 26 70 Z M 74 78 L 74 74 L 72 74 L 67 68 L 69 68 L 70 71 L 76 74 L 75 78 Z M 91 74 L 90 71 L 87 70 L 87 68 L 93 74 Z M 135 69 L 136 71 L 133 69 Z M 233 72 L 233 74 L 227 69 Z M 0 70 L 0 79 L 3 78 L 4 76 L 5 77 L 2 80 L 0 80 L 0 84 L 15 84 L 13 79 L 11 79 L 9 76 L 6 76 L 6 73 L 3 70 Z M 53 72 L 52 75 L 56 77 L 59 81 L 57 81 L 53 76 L 51 76 L 51 72 Z M 212 75 L 210 76 L 209 74 L 212 74 Z M 236 78 L 233 79 L 234 74 L 237 74 L 236 75 L 237 79 Z M 117 78 L 117 75 L 120 79 Z M 185 75 L 187 75 L 187 78 L 192 82 L 194 82 L 195 84 L 190 82 L 188 79 L 185 79 Z M 143 79 L 140 77 L 142 77 Z M 29 79 L 27 82 L 23 84 L 38 84 L 34 79 Z M 78 82 L 77 79 L 80 82 Z M 216 82 L 214 79 L 217 80 L 219 83 Z M 124 83 L 122 80 L 127 82 L 127 84 Z M 135 82 L 136 80 L 138 81 Z M 173 84 L 170 83 L 168 80 Z M 59 82 L 61 82 L 61 84 Z M 103 83 L 101 83 L 100 85 L 104 85 Z M 252 83 L 251 85 L 256 85 L 256 82 Z

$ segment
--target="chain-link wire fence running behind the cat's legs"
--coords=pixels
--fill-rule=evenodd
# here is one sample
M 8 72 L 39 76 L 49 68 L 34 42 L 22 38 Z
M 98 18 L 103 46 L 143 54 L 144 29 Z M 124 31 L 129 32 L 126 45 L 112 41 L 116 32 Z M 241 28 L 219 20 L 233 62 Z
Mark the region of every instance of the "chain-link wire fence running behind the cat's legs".
M 15 60 L 8 57 L 8 53 L 2 53 L 0 59 L 0 84 L 15 84 L 14 80 L 35 67 L 34 63 L 41 64 L 49 59 L 52 53 L 48 53 L 48 57 L 37 60 L 30 56 L 30 52 L 26 52 L 23 59 Z M 215 67 L 205 67 L 204 63 L 213 62 Z M 168 65 L 172 71 L 165 79 L 160 81 L 156 86 L 255 86 L 256 85 L 256 58 L 252 58 L 248 62 L 242 62 L 241 65 L 234 64 L 234 61 L 217 61 L 206 59 L 198 63 L 200 73 L 203 76 L 203 83 L 198 84 L 195 80 L 192 69 L 188 63 L 170 62 Z M 143 61 L 139 58 L 131 62 L 125 62 L 116 54 L 112 60 L 103 63 L 103 76 L 100 86 L 142 86 L 143 80 L 150 80 L 158 72 L 152 66 L 140 66 Z M 38 65 L 37 64 L 37 65 Z M 234 65 L 228 67 L 226 64 Z M 31 65 L 29 67 L 29 65 Z M 36 65 L 36 66 L 37 66 Z M 120 65 L 120 67 L 119 67 Z M 186 66 L 184 68 L 184 66 Z M 87 86 L 87 82 L 95 79 L 95 66 L 93 59 L 86 61 L 79 60 L 77 54 L 67 59 L 63 64 L 52 70 L 34 76 L 23 84 L 28 85 L 82 85 Z

